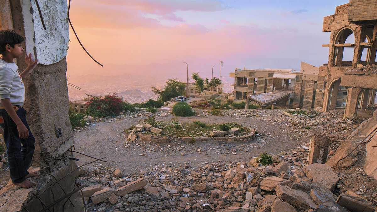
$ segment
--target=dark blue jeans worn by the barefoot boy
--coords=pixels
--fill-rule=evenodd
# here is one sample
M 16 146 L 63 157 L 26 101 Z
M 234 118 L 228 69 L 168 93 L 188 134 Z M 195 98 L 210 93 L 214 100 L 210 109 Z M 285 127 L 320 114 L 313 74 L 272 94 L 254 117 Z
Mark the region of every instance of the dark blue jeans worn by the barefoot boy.
M 0 126 L 4 130 L 4 141 L 8 154 L 9 172 L 13 183 L 21 183 L 26 180 L 25 176 L 29 174 L 28 168 L 34 155 L 35 138 L 30 131 L 29 125 L 26 122 L 26 110 L 22 106 L 15 108 L 16 114 L 25 124 L 29 131 L 29 137 L 20 138 L 17 124 L 8 115 L 5 109 L 0 109 L 0 115 L 3 121 L 0 120 Z

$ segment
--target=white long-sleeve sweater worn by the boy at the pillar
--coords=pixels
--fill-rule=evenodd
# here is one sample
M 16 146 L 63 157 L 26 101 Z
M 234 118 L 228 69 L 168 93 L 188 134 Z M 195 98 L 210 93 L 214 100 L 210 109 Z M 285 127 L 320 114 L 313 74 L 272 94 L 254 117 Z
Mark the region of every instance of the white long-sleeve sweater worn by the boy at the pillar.
M 0 60 L 0 99 L 9 98 L 12 105 L 23 105 L 25 86 L 15 63 Z M 0 103 L 0 106 L 2 104 Z

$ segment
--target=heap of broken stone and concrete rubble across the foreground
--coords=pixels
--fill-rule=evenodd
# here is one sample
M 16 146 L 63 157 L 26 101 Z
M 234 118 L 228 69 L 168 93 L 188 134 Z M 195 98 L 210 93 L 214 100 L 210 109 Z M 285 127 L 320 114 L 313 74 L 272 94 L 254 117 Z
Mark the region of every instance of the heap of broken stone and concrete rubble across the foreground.
M 274 155 L 276 166 L 262 166 L 255 158 L 248 163 L 207 163 L 196 169 L 184 162 L 126 176 L 107 167 L 81 172 L 85 174 L 77 183 L 92 184 L 83 189 L 88 211 L 297 212 L 330 207 L 345 211 L 334 203 L 338 197 L 331 192 L 341 177 L 326 164 L 303 166 L 307 155 L 303 146 Z M 348 194 L 344 198 L 355 199 Z M 365 200 L 355 201 L 374 207 Z

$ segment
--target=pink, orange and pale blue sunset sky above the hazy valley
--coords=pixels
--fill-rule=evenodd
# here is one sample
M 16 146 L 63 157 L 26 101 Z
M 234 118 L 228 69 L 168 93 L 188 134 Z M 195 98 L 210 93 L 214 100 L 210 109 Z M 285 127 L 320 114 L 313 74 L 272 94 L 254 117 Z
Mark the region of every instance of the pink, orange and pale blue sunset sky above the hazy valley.
M 70 20 L 84 47 L 104 67 L 89 58 L 71 30 L 67 75 L 127 75 L 149 66 L 156 67 L 153 74 L 185 80 L 186 62 L 189 75 L 200 72 L 204 78 L 211 77 L 216 64 L 218 77 L 222 60 L 223 79 L 228 80 L 236 68 L 299 70 L 300 61 L 320 66 L 328 61 L 328 48 L 321 45 L 330 36 L 322 32 L 323 17 L 345 3 L 74 0 Z

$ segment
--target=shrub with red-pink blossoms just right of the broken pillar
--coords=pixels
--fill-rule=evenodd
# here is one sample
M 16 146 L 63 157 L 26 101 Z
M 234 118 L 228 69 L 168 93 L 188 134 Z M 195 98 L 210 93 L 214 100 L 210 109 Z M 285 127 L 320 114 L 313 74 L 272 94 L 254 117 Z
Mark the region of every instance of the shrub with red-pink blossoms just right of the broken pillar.
M 88 96 L 91 98 L 86 103 L 86 114 L 92 117 L 116 116 L 122 111 L 134 110 L 131 104 L 123 101 L 116 94 L 106 94 L 103 98 Z

